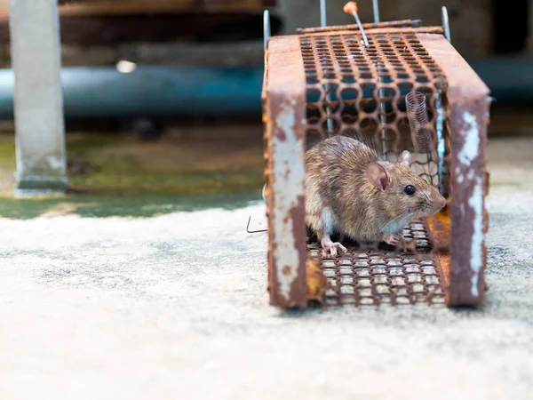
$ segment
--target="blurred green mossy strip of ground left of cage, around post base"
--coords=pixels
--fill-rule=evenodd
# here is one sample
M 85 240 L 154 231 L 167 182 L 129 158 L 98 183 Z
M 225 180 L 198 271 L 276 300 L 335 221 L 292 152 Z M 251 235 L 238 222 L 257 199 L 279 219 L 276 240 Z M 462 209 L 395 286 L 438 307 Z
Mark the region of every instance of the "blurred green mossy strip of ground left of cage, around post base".
M 202 146 L 195 143 L 193 147 L 190 151 L 194 153 Z M 257 151 L 256 147 L 251 148 Z M 11 185 L 5 183 L 15 170 L 14 140 L 11 135 L 0 137 L 0 180 L 4 180 L 1 217 L 32 219 L 46 213 L 74 213 L 139 218 L 207 208 L 233 209 L 261 198 L 262 160 L 259 156 L 250 161 L 250 151 L 243 164 L 231 154 L 231 163 L 205 164 L 199 154 L 194 162 L 173 166 L 174 158 L 187 153 L 187 145 L 175 146 L 168 140 L 147 144 L 107 133 L 70 135 L 67 148 L 69 193 L 17 199 L 12 197 Z M 156 156 L 147 156 L 146 149 L 155 151 Z

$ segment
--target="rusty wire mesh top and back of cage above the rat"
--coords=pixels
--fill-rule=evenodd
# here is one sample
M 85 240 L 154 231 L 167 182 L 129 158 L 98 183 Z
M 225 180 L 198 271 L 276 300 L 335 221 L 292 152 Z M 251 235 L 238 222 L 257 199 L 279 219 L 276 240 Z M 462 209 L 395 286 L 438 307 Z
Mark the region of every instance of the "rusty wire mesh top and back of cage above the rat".
M 357 135 L 390 161 L 409 150 L 416 153 L 415 172 L 437 185 L 434 104 L 437 93 L 442 96 L 446 90 L 442 69 L 414 33 L 368 37 L 368 48 L 359 35 L 300 37 L 308 143 L 332 134 Z M 426 103 L 425 119 L 416 132 L 410 131 L 407 113 L 405 98 L 410 93 Z

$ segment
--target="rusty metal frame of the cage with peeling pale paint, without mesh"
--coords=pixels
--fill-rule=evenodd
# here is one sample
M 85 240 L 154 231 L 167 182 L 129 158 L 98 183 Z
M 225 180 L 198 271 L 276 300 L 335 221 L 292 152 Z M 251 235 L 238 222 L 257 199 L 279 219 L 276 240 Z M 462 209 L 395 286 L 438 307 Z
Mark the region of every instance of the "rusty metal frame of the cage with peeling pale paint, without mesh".
M 447 306 L 486 303 L 485 236 L 489 215 L 485 197 L 489 172 L 485 148 L 489 124 L 489 88 L 444 36 L 442 27 L 377 24 L 367 36 L 410 32 L 442 68 L 447 79 L 446 124 L 449 130 L 449 228 L 438 240 L 449 241 Z M 306 308 L 305 152 L 306 75 L 299 40 L 302 35 L 354 35 L 356 29 L 314 28 L 300 35 L 274 36 L 265 51 L 262 90 L 265 179 L 268 220 L 268 290 L 270 304 Z M 435 221 L 434 221 L 435 222 Z M 436 223 L 436 225 L 435 225 Z M 434 229 L 439 229 L 439 222 Z

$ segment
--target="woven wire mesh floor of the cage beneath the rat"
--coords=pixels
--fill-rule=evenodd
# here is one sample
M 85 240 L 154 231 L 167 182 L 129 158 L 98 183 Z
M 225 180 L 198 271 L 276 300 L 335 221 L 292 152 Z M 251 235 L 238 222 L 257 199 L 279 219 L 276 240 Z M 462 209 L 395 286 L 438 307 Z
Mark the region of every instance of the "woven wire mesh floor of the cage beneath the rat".
M 432 252 L 428 228 L 419 221 L 404 231 L 415 240 L 417 252 L 395 252 L 346 245 L 337 259 L 322 258 L 320 244 L 310 241 L 307 252 L 320 261 L 327 278 L 324 306 L 443 305 L 444 278 L 438 256 Z

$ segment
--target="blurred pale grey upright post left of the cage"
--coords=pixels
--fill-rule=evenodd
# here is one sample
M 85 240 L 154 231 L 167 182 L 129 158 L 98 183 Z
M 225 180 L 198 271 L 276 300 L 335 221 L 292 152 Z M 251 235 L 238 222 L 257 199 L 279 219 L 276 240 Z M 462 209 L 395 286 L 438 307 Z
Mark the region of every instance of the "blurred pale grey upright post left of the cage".
M 15 195 L 68 186 L 56 0 L 11 0 L 17 148 Z

